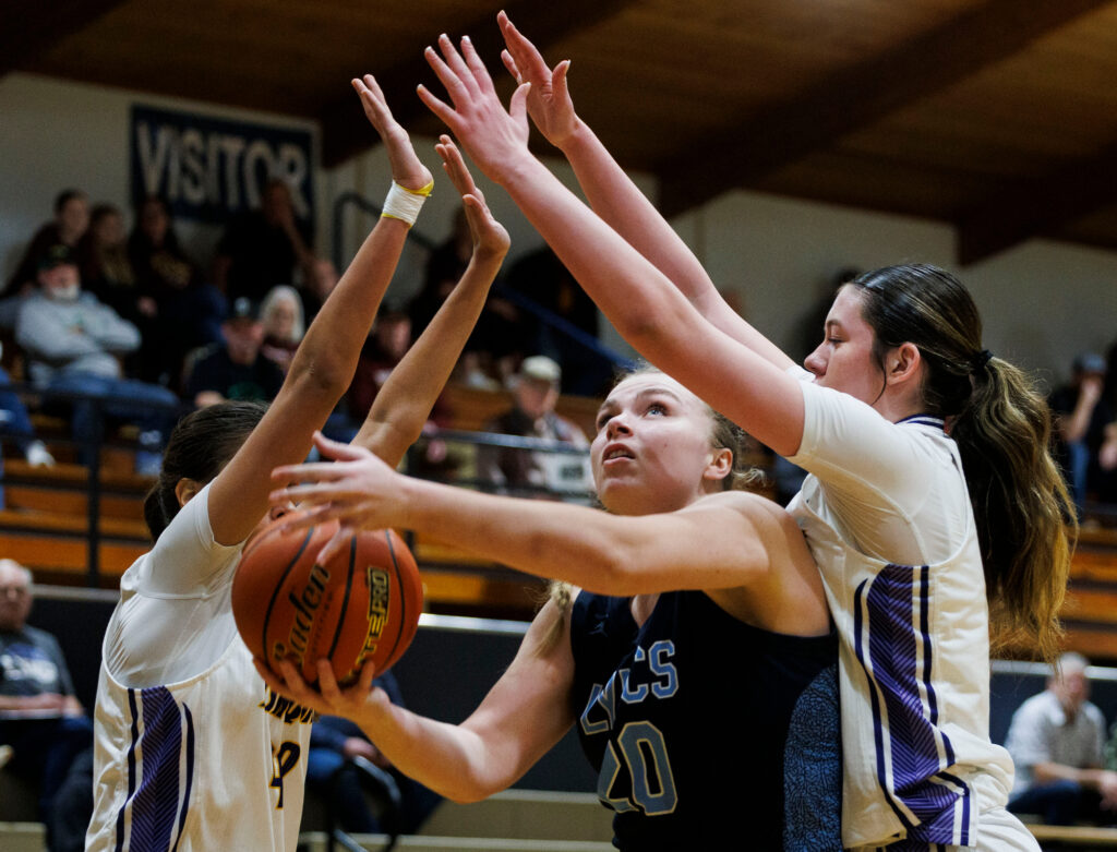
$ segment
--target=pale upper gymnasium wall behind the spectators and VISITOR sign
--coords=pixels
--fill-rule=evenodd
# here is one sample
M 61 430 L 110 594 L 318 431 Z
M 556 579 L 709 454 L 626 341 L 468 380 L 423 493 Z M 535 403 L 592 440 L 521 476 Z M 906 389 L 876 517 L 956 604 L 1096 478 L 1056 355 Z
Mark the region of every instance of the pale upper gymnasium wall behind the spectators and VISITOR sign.
M 347 87 L 346 82 L 340 86 Z M 306 127 L 278 116 L 209 104 L 60 82 L 32 75 L 0 79 L 0 272 L 10 274 L 16 255 L 50 216 L 58 190 L 76 185 L 94 201 L 124 205 L 127 200 L 127 109 L 132 103 L 197 109 L 206 115 L 269 121 Z M 354 119 L 363 121 L 354 108 Z M 313 127 L 313 125 L 311 125 Z M 373 133 L 369 130 L 370 135 Z M 432 140 L 417 140 L 424 161 L 437 165 Z M 552 162 L 571 182 L 569 169 Z M 341 193 L 355 190 L 373 200 L 386 186 L 382 150 L 315 175 L 318 249 L 331 251 L 331 209 Z M 646 191 L 655 183 L 638 178 Z M 717 175 L 709 180 L 717 181 Z M 513 238 L 513 257 L 538 237 L 506 195 L 481 182 L 495 214 Z M 449 231 L 456 194 L 442 182 L 417 230 L 441 240 Z M 953 230 L 937 222 L 808 203 L 753 192 L 731 192 L 675 222 L 695 248 L 718 287 L 757 327 L 789 350 L 800 350 L 800 325 L 842 268 L 928 261 L 954 268 Z M 342 231 L 345 255 L 355 249 L 370 222 L 347 213 Z M 200 257 L 210 252 L 212 228 L 182 228 Z M 410 296 L 422 257 L 410 252 L 389 291 Z M 985 319 L 986 346 L 999 355 L 1061 380 L 1073 355 L 1104 350 L 1117 338 L 1117 252 L 1032 240 L 991 260 L 961 270 Z M 820 333 L 818 333 L 820 334 Z M 630 352 L 612 329 L 607 343 Z

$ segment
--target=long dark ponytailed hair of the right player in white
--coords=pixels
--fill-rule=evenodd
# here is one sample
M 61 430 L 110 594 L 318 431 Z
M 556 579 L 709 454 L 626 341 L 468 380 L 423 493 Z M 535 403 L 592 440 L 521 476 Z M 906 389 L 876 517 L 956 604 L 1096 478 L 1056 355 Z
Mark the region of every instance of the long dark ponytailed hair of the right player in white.
M 1051 413 L 1034 382 L 982 348 L 977 306 L 933 266 L 895 266 L 851 281 L 872 328 L 873 356 L 913 343 L 926 364 L 924 412 L 957 442 L 981 544 L 994 640 L 1027 636 L 1051 659 L 1070 569 L 1075 511 L 1051 458 Z

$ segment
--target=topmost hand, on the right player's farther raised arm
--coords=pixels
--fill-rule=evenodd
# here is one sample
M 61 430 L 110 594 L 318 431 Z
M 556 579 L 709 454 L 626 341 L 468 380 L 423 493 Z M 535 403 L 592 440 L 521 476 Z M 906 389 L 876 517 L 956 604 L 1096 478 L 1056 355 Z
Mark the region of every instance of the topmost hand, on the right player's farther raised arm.
M 532 84 L 527 93 L 527 114 L 547 142 L 561 149 L 577 130 L 574 102 L 566 87 L 570 60 L 564 59 L 552 70 L 538 48 L 528 41 L 503 11 L 496 16 L 504 33 L 506 50 L 500 52 L 504 67 L 516 83 Z

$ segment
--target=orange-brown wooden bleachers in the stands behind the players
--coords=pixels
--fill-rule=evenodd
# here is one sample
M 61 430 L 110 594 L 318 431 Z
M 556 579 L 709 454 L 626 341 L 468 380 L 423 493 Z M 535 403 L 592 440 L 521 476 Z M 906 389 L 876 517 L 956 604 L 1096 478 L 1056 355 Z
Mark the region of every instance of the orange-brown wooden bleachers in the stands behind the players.
M 503 391 L 461 385 L 447 387 L 442 402 L 455 430 L 479 431 L 512 404 Z M 557 411 L 592 434 L 599 400 L 562 396 Z M 54 448 L 52 448 L 54 449 Z M 106 451 L 101 475 L 101 542 L 97 549 L 103 587 L 150 547 L 143 523 L 143 495 L 150 479 L 131 473 L 120 451 Z M 65 450 L 59 453 L 65 458 Z M 755 462 L 763 462 L 758 453 Z M 4 462 L 7 506 L 0 510 L 0 554 L 36 572 L 39 582 L 87 582 L 88 473 L 78 465 L 31 468 L 17 459 Z M 426 583 L 431 612 L 531 618 L 545 584 L 451 546 L 410 540 Z M 1117 528 L 1082 529 L 1063 609 L 1068 649 L 1098 662 L 1117 661 Z

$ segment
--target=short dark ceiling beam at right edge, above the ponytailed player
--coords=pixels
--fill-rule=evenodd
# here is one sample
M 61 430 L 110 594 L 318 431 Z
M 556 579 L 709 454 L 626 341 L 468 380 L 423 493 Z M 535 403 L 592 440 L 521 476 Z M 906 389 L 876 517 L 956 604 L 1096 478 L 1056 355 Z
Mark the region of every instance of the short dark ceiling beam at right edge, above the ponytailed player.
M 958 264 L 985 260 L 1117 200 L 1117 142 L 1039 180 L 997 191 L 955 222 Z

